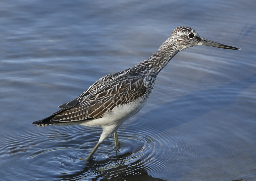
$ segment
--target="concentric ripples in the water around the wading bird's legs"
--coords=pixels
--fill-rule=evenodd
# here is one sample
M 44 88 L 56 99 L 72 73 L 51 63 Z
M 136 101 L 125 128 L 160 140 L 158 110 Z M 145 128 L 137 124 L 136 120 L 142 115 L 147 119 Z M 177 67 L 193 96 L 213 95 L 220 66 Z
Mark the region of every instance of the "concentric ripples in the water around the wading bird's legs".
M 120 146 L 114 146 L 111 136 L 90 161 L 84 161 L 100 134 L 100 128 L 49 126 L 4 135 L 1 164 L 15 163 L 19 168 L 3 167 L 8 168 L 5 176 L 23 180 L 165 180 L 161 176 L 184 173 L 189 170 L 186 162 L 191 166 L 197 158 L 198 149 L 186 138 L 140 121 L 128 121 L 118 130 Z M 27 176 L 19 174 L 24 172 Z

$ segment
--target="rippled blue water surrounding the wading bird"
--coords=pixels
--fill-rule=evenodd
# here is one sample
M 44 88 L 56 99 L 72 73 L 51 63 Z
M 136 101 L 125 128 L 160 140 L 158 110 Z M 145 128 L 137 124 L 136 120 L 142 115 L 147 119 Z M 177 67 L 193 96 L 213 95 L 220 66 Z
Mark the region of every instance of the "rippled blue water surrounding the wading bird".
M 1 1 L 1 180 L 256 180 L 255 1 Z M 89 162 L 100 128 L 33 127 L 104 75 L 147 59 L 177 26 L 197 46 Z

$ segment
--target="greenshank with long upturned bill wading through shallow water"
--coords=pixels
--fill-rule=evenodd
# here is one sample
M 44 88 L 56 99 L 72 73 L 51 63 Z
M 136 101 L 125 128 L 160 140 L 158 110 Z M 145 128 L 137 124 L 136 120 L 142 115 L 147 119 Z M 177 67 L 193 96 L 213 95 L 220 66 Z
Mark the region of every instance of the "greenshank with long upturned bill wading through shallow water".
M 55 124 L 100 126 L 102 134 L 86 159 L 89 160 L 109 135 L 114 134 L 115 145 L 119 144 L 117 129 L 146 104 L 158 73 L 179 51 L 197 45 L 238 50 L 204 39 L 190 27 L 177 27 L 151 57 L 131 68 L 102 77 L 80 96 L 60 105 L 59 111 L 33 124 L 40 127 Z

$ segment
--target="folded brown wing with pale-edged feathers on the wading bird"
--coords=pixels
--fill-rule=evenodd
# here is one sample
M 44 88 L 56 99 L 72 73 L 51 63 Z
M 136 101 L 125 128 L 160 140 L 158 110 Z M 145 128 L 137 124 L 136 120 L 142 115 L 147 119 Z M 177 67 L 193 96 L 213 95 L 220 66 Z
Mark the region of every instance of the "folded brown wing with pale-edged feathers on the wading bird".
M 117 105 L 132 102 L 146 93 L 147 85 L 139 76 L 107 75 L 76 99 L 61 105 L 60 111 L 34 122 L 34 124 L 54 124 L 100 118 L 111 112 Z M 74 105 L 74 106 L 73 106 Z

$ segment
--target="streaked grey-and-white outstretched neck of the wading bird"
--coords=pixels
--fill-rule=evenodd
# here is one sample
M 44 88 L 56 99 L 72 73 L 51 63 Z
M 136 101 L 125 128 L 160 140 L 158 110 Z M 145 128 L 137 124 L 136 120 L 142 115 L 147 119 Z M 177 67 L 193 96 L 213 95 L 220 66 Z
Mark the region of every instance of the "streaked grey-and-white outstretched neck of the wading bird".
M 154 71 L 157 75 L 167 65 L 172 57 L 180 51 L 173 47 L 175 46 L 173 46 L 170 41 L 166 40 L 151 57 L 140 62 L 140 65 Z

